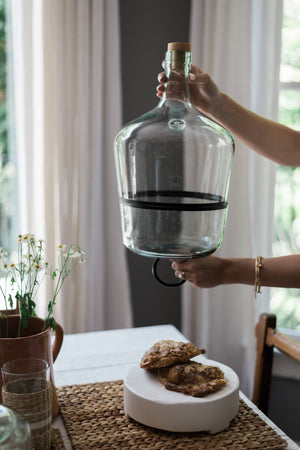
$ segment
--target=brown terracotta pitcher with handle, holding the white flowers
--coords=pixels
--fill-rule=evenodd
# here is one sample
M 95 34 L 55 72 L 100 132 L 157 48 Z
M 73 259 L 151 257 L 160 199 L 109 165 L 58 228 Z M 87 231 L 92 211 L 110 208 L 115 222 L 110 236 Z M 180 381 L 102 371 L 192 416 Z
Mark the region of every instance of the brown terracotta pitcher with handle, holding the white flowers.
M 54 341 L 52 343 L 51 328 L 45 327 L 45 321 L 39 317 L 33 317 L 28 320 L 27 328 L 22 332 L 22 337 L 16 337 L 20 322 L 20 316 L 10 315 L 0 318 L 0 336 L 6 336 L 8 320 L 8 336 L 0 337 L 0 367 L 8 361 L 21 358 L 41 358 L 48 361 L 50 365 L 50 380 L 53 385 L 52 399 L 52 417 L 58 414 L 58 400 L 56 389 L 54 387 L 53 363 L 60 351 L 64 332 L 57 323 L 54 331 Z M 0 375 L 0 403 L 2 377 Z

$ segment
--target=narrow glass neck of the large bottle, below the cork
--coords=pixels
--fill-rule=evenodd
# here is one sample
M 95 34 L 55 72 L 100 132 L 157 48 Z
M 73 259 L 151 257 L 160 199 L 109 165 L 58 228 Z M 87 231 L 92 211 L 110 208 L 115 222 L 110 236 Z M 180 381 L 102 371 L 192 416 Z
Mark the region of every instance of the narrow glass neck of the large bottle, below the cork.
M 177 100 L 190 103 L 190 89 L 188 75 L 192 63 L 191 52 L 168 50 L 165 55 L 165 93 L 163 101 Z

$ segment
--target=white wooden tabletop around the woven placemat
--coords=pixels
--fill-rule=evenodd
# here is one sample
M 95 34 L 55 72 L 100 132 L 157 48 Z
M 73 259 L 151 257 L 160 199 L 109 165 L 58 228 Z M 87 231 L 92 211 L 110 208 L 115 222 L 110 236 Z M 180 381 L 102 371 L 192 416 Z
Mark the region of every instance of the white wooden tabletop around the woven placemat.
M 124 379 L 128 370 L 139 364 L 145 351 L 160 339 L 186 341 L 185 337 L 172 325 L 65 335 L 61 351 L 54 363 L 55 385 Z M 288 442 L 286 449 L 300 448 L 243 393 L 240 393 L 240 396 Z M 60 428 L 66 449 L 72 449 L 60 416 L 55 419 L 53 426 Z

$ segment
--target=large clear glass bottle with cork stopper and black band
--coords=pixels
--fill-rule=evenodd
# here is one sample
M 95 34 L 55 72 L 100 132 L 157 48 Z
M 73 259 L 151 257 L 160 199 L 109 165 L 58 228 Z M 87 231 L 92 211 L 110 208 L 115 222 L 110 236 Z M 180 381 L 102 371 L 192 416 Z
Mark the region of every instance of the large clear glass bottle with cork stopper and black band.
M 193 258 L 221 244 L 234 142 L 191 104 L 191 46 L 170 43 L 158 106 L 115 138 L 123 242 L 154 258 Z

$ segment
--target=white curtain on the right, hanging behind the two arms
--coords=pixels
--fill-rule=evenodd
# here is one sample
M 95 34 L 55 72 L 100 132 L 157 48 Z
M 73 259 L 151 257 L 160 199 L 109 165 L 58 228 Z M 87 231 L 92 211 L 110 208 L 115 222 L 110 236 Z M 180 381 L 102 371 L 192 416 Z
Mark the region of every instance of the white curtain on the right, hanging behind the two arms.
M 219 88 L 260 115 L 277 118 L 282 0 L 193 0 L 193 63 Z M 276 165 L 235 140 L 229 213 L 218 255 L 272 255 Z M 254 269 L 253 269 L 254 284 Z M 183 332 L 207 348 L 208 357 L 238 373 L 251 395 L 259 314 L 269 289 L 254 298 L 254 286 L 183 288 Z

